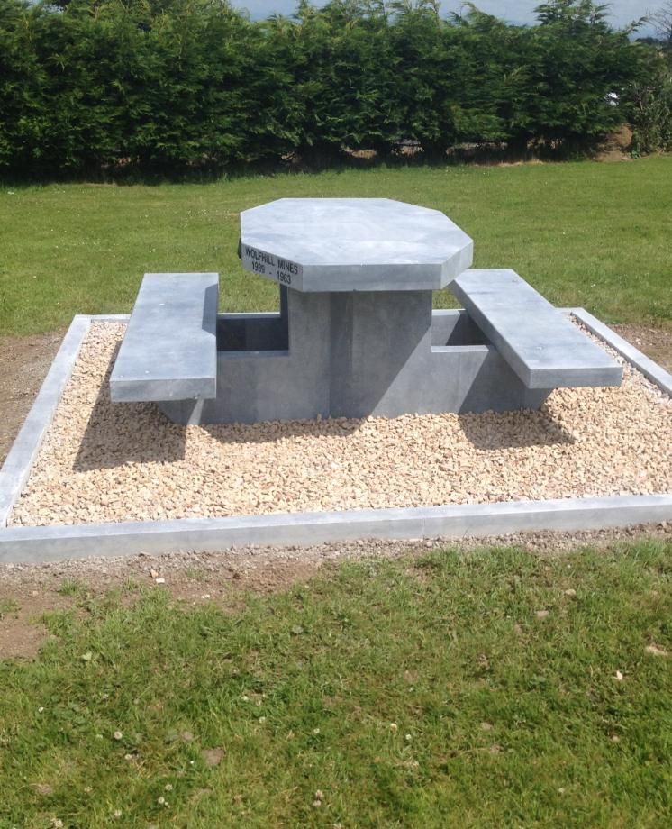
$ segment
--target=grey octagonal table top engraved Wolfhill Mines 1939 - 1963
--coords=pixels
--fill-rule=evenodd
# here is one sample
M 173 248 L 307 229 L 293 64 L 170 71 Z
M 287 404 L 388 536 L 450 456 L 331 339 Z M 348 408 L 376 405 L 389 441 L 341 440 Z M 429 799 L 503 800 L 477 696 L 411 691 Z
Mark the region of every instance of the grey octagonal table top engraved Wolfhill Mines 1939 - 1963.
M 243 268 L 299 291 L 438 290 L 473 246 L 440 211 L 387 198 L 280 198 L 241 213 Z

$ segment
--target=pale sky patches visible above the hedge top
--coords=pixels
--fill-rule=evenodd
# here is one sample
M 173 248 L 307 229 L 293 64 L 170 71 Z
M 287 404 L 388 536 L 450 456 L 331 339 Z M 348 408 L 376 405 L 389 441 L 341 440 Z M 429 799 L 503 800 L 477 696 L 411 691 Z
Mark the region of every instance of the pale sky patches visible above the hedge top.
M 315 5 L 323 5 L 326 0 L 313 0 Z M 540 5 L 541 0 L 476 0 L 476 5 L 487 14 L 496 14 L 511 23 L 534 23 L 534 8 Z M 246 8 L 253 18 L 268 17 L 269 14 L 292 14 L 297 0 L 232 0 L 232 4 L 239 8 Z M 656 11 L 665 0 L 612 0 L 609 4 L 609 22 L 620 27 L 637 20 L 648 12 Z M 442 0 L 445 14 L 459 11 L 459 0 Z M 650 34 L 650 28 L 643 29 L 642 35 Z

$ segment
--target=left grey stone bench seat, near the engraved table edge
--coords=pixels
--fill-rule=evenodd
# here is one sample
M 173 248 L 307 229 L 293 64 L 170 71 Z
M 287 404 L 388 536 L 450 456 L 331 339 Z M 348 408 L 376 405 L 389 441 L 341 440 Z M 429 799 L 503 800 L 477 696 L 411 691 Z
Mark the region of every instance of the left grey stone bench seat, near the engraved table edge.
M 219 274 L 147 273 L 114 369 L 114 403 L 217 394 Z

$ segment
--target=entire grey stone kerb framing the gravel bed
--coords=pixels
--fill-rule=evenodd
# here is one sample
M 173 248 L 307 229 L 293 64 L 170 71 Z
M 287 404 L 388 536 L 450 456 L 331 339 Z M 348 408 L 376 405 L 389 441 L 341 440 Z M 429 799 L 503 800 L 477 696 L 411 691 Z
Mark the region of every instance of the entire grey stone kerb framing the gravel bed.
M 562 309 L 672 396 L 672 375 L 583 308 Z M 465 538 L 526 531 L 623 527 L 672 520 L 672 493 L 325 513 L 180 518 L 168 521 L 7 527 L 59 398 L 93 322 L 128 314 L 77 315 L 0 469 L 0 562 L 41 562 L 138 552 L 216 551 L 238 545 L 307 545 L 353 539 Z

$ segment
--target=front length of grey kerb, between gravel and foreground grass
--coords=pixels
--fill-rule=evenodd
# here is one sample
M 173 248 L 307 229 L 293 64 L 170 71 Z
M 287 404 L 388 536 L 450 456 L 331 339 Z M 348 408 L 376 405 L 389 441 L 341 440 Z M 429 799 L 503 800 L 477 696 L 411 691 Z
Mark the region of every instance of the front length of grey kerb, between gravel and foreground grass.
M 670 518 L 672 495 L 652 495 L 11 527 L 0 532 L 0 562 L 218 551 L 249 544 L 310 545 L 367 538 L 459 540 L 540 530 L 575 532 L 624 527 Z

